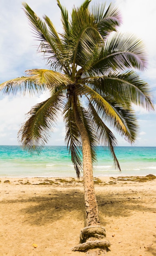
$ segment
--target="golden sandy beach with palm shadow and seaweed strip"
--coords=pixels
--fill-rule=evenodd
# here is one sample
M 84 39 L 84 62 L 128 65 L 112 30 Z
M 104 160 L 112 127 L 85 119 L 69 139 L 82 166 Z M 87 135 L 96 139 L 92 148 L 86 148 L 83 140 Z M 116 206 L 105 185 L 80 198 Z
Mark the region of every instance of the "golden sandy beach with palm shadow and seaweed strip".
M 82 180 L 0 180 L 0 256 L 85 256 L 71 251 L 85 227 Z M 107 255 L 156 255 L 156 179 L 99 177 L 95 190 Z

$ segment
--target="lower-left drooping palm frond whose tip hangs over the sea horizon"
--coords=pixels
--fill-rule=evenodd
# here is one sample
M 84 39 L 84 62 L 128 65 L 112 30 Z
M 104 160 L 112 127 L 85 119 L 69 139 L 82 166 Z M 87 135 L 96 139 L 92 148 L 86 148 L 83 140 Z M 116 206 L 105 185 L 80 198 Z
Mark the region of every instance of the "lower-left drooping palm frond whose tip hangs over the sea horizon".
M 31 108 L 27 121 L 18 132 L 18 140 L 23 148 L 32 154 L 40 153 L 55 127 L 64 99 L 62 92 L 56 92 Z

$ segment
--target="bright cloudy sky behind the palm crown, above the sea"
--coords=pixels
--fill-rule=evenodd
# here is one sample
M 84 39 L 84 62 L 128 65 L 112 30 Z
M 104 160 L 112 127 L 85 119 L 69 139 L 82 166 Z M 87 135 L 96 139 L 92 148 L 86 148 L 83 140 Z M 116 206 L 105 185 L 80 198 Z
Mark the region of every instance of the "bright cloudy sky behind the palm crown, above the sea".
M 26 0 L 27 4 L 42 18 L 49 16 L 58 31 L 61 31 L 60 9 L 56 0 Z M 72 7 L 79 6 L 82 0 L 60 0 L 69 13 Z M 92 0 L 91 4 L 105 2 Z M 156 1 L 154 0 L 112 0 L 121 11 L 123 25 L 120 31 L 131 32 L 142 39 L 147 47 L 148 67 L 139 73 L 149 83 L 156 105 Z M 72 3 L 72 4 L 71 4 Z M 37 42 L 34 40 L 28 20 L 20 0 L 0 1 L 0 83 L 24 76 L 25 70 L 46 68 L 42 56 L 36 54 Z M 4 95 L 0 92 L 0 145 L 18 145 L 17 133 L 25 121 L 26 114 L 36 103 L 47 95 L 22 97 Z M 133 146 L 156 146 L 156 112 L 147 112 L 135 107 L 140 130 Z M 116 133 L 114 132 L 116 135 Z M 124 138 L 116 135 L 118 146 L 131 146 Z M 65 145 L 65 126 L 62 118 L 58 120 L 48 145 Z

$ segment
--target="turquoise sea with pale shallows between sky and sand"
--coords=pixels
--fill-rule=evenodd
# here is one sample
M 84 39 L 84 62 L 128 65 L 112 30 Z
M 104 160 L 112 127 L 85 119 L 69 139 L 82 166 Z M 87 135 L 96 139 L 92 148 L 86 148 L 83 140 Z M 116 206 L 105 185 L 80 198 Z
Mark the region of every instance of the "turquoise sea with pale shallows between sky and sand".
M 122 172 L 115 170 L 109 152 L 97 147 L 95 177 L 156 175 L 156 147 L 116 147 L 115 152 Z M 38 156 L 20 146 L 0 146 L 0 177 L 76 177 L 76 173 L 66 146 L 46 146 Z

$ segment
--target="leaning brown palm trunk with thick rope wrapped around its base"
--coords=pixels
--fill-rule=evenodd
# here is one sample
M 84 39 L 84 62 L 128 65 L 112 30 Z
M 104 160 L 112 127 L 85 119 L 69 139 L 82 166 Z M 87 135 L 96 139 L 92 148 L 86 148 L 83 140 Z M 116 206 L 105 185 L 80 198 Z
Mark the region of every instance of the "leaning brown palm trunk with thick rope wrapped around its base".
M 85 191 L 85 209 L 86 209 L 86 228 L 81 231 L 80 234 L 80 243 L 87 246 L 91 243 L 90 248 L 94 248 L 93 243 L 99 242 L 98 239 L 105 238 L 105 229 L 100 227 L 100 219 L 98 213 L 98 204 L 96 201 L 96 194 L 94 189 L 94 178 L 93 178 L 93 166 L 92 166 L 92 157 L 91 157 L 91 146 L 89 141 L 89 136 L 87 130 L 83 124 L 83 121 L 80 117 L 77 100 L 74 100 L 74 115 L 76 120 L 76 125 L 80 131 L 82 139 L 82 157 L 83 157 L 83 181 L 84 181 L 84 191 Z M 86 238 L 84 240 L 84 237 Z M 83 244 L 84 243 L 84 244 Z M 110 246 L 108 244 L 108 246 Z M 98 244 L 97 246 L 98 247 Z M 101 248 L 102 247 L 102 248 Z M 76 248 L 76 247 L 75 247 Z M 97 249 L 83 249 L 86 251 L 88 256 L 98 256 L 104 255 L 107 252 L 107 247 L 101 246 Z M 80 246 L 81 250 L 82 247 Z M 75 249 L 77 250 L 77 249 Z

